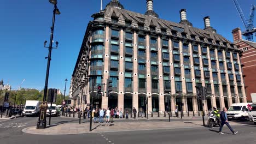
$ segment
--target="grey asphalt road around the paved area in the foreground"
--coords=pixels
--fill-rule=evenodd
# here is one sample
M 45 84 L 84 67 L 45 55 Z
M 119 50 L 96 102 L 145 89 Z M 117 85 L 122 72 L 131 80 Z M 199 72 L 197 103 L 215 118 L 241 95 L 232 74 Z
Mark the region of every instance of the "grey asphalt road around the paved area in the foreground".
M 232 135 L 229 129 L 224 126 L 224 135 L 218 133 L 217 128 L 180 128 L 165 130 L 143 130 L 124 131 L 108 133 L 92 133 L 77 135 L 31 135 L 21 132 L 21 129 L 36 125 L 37 118 L 15 118 L 8 120 L 0 119 L 0 143 L 121 143 L 121 144 L 143 144 L 143 143 L 256 143 L 256 126 L 251 122 L 246 125 L 233 127 L 239 131 Z M 78 122 L 74 118 L 54 117 L 52 123 Z M 124 123 L 125 124 L 125 123 Z M 231 125 L 232 126 L 232 125 Z

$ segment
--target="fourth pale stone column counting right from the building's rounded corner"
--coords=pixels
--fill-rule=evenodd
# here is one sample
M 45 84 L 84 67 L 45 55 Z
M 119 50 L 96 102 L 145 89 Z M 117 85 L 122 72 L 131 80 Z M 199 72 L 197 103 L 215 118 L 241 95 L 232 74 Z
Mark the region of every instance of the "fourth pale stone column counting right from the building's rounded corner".
M 151 73 L 150 73 L 150 48 L 149 48 L 149 35 L 146 35 L 146 55 L 147 55 L 147 96 L 150 97 L 148 98 L 148 112 L 152 112 L 152 80 L 151 80 Z

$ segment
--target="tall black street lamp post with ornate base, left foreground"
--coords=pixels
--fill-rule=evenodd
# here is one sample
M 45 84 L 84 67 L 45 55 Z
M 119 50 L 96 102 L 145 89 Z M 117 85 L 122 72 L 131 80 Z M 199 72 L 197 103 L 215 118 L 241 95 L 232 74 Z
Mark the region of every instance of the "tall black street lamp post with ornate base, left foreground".
M 48 53 L 48 62 L 47 62 L 47 68 L 46 68 L 46 77 L 45 77 L 45 85 L 44 85 L 44 97 L 43 97 L 43 103 L 40 105 L 40 116 L 38 117 L 37 121 L 37 129 L 39 128 L 46 128 L 46 110 L 48 108 L 47 102 L 46 102 L 46 94 L 48 90 L 48 78 L 49 78 L 49 70 L 50 70 L 50 62 L 51 62 L 51 50 L 53 49 L 53 35 L 54 35 L 54 24 L 55 24 L 55 15 L 59 15 L 60 11 L 57 8 L 57 0 L 49 0 L 51 4 L 54 4 L 54 10 L 53 10 L 53 21 L 51 26 L 51 36 L 50 36 L 50 44 L 49 44 L 49 53 Z M 47 41 L 44 41 L 44 47 Z M 56 41 L 56 47 L 58 46 L 58 42 Z M 42 122 L 42 127 L 40 127 L 40 123 Z

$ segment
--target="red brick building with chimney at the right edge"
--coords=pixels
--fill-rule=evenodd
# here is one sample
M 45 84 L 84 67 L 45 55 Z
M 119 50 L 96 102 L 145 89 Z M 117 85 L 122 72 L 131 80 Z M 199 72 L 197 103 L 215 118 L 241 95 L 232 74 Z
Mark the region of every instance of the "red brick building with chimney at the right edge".
M 245 79 L 246 97 L 248 101 L 252 100 L 252 93 L 256 93 L 256 43 L 242 39 L 240 28 L 232 31 L 234 44 L 243 51 L 241 56 L 241 65 L 243 66 L 243 77 Z

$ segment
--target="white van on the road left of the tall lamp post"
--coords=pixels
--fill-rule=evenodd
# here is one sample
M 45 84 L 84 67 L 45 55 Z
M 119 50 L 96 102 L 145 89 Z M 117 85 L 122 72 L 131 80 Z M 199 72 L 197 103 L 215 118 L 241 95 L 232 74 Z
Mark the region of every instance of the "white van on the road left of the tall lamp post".
M 22 111 L 22 117 L 24 116 L 38 116 L 40 109 L 40 101 L 38 100 L 26 100 L 25 108 Z

